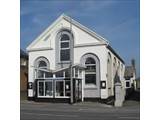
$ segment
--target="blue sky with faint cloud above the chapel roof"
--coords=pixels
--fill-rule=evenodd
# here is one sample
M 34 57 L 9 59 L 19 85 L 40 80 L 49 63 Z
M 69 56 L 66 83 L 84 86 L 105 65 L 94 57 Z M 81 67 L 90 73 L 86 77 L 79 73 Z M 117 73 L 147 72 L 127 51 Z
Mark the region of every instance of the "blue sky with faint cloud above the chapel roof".
M 21 0 L 20 47 L 26 47 L 62 13 L 106 38 L 140 76 L 139 0 Z

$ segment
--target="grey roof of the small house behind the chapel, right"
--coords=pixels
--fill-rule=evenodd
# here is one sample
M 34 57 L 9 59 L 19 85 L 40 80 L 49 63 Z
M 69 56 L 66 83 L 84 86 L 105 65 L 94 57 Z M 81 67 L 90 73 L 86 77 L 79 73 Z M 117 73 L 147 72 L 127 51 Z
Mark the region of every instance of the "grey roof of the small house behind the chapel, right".
M 134 73 L 135 73 L 135 68 L 133 66 L 126 66 L 125 67 L 125 73 L 124 73 L 125 78 L 133 77 Z

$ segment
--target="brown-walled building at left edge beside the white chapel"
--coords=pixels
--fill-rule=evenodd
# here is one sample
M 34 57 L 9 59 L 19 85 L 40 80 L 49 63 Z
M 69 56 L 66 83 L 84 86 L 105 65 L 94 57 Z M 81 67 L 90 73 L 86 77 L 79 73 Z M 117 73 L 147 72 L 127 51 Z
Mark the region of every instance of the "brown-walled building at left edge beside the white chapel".
M 20 49 L 20 91 L 27 92 L 28 83 L 28 55 Z

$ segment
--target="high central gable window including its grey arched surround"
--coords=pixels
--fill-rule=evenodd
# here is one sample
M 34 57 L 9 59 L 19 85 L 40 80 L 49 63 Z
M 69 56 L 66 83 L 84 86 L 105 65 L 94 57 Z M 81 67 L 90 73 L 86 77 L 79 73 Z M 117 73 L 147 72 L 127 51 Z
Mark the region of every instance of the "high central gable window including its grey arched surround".
M 73 31 L 68 28 L 59 29 L 55 41 L 55 66 L 57 69 L 69 67 L 74 55 L 73 45 Z

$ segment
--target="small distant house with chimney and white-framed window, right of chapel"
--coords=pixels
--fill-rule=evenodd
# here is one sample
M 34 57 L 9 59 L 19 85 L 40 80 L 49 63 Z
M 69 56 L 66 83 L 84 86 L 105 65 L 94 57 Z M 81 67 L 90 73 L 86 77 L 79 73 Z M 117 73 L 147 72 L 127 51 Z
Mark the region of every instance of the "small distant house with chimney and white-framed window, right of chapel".
M 125 73 L 124 73 L 124 78 L 125 78 L 125 87 L 126 89 L 133 88 L 134 90 L 136 89 L 136 69 L 135 69 L 135 60 L 133 59 L 131 61 L 131 66 L 126 66 L 125 67 Z

